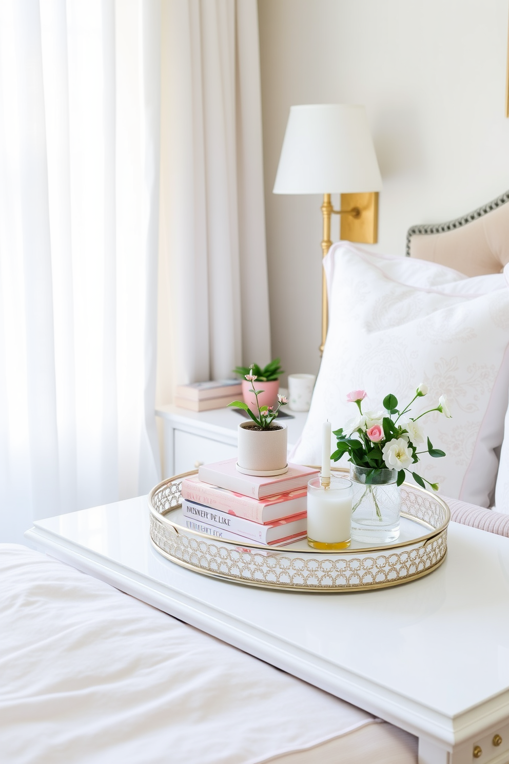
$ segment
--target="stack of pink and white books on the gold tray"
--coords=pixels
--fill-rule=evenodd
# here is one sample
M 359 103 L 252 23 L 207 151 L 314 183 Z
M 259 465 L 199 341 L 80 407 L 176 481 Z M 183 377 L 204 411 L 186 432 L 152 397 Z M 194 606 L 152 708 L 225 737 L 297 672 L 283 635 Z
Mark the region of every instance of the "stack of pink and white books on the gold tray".
M 288 465 L 274 478 L 241 474 L 237 460 L 202 465 L 182 481 L 182 512 L 189 529 L 257 544 L 291 544 L 307 534 L 308 481 L 317 470 Z

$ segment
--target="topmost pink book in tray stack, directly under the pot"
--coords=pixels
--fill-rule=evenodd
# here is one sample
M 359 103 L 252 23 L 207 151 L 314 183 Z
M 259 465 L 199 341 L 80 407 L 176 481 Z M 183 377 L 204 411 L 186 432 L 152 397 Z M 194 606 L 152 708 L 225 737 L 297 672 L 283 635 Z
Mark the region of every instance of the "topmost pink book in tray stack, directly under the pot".
M 251 496 L 254 499 L 266 499 L 276 494 L 285 494 L 290 490 L 305 488 L 318 470 L 302 465 L 288 465 L 288 472 L 275 475 L 274 478 L 257 478 L 255 475 L 245 475 L 237 471 L 237 459 L 216 461 L 212 465 L 201 465 L 198 478 L 205 483 L 217 485 L 237 494 Z

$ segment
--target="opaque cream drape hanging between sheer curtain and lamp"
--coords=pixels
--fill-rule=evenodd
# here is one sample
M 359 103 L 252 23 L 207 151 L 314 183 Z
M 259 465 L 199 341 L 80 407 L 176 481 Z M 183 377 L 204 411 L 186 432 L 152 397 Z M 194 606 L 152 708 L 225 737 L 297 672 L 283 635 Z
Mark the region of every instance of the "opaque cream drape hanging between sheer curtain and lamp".
M 158 400 L 270 356 L 256 0 L 161 15 Z M 175 362 L 178 359 L 178 363 Z

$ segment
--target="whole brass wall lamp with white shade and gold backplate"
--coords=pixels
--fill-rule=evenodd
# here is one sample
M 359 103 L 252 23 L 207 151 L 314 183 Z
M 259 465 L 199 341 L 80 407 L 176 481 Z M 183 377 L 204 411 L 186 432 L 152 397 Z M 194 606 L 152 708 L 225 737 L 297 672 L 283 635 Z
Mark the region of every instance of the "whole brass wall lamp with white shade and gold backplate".
M 332 244 L 330 215 L 341 215 L 340 238 L 375 244 L 382 176 L 363 106 L 292 106 L 273 193 L 324 195 L 322 257 Z M 333 209 L 332 193 L 341 194 Z M 327 283 L 322 277 L 322 341 L 327 336 Z

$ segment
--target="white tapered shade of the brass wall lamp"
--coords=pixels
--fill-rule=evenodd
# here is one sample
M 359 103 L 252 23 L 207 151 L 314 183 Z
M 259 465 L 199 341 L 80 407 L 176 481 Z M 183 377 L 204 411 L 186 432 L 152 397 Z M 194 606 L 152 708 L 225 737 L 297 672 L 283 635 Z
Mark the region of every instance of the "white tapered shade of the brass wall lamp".
M 364 106 L 292 106 L 274 193 L 364 193 L 382 176 Z

